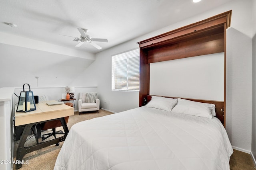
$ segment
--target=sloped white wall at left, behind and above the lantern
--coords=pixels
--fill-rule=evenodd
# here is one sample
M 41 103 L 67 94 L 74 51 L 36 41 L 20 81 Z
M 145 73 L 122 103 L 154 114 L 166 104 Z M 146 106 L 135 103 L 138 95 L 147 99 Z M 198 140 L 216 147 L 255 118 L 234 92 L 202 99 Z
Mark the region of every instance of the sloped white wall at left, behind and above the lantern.
M 1 40 L 4 39 L 2 35 L 0 33 Z M 67 50 L 64 55 L 62 48 L 52 52 L 46 45 L 43 48 L 40 41 L 35 41 L 34 45 L 42 49 L 0 43 L 0 87 L 20 87 L 24 83 L 35 87 L 70 86 L 74 78 L 95 60 L 94 54 L 86 52 L 77 55 Z

